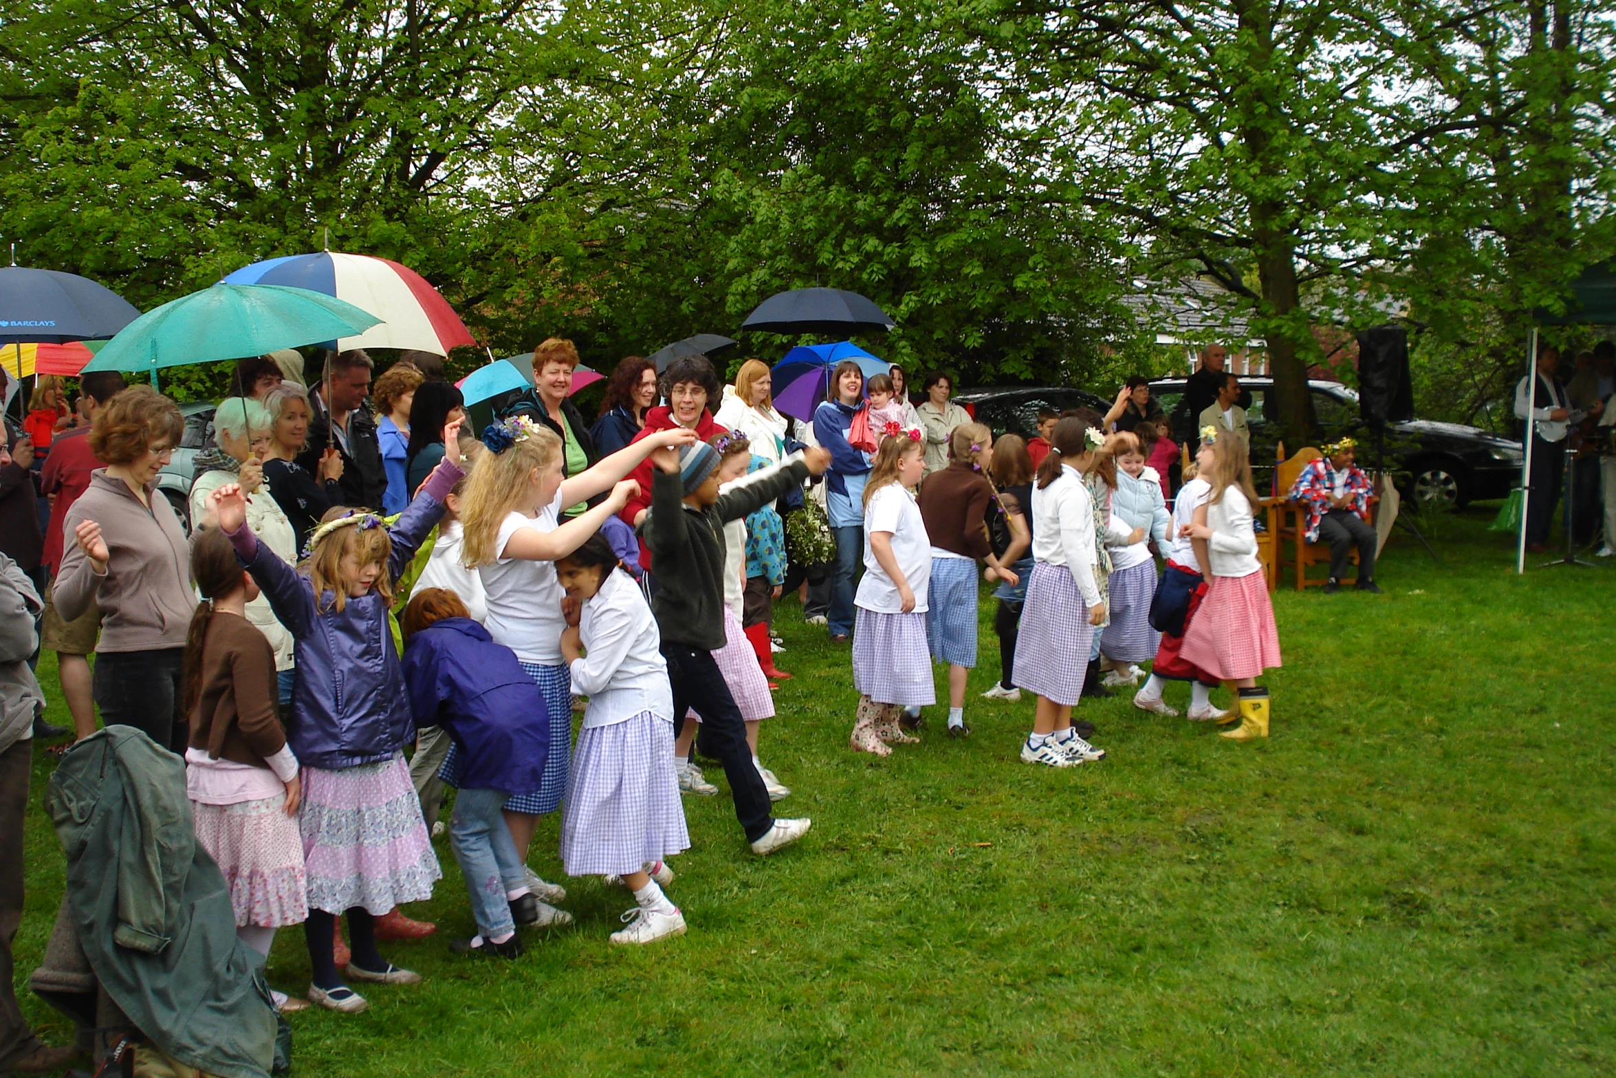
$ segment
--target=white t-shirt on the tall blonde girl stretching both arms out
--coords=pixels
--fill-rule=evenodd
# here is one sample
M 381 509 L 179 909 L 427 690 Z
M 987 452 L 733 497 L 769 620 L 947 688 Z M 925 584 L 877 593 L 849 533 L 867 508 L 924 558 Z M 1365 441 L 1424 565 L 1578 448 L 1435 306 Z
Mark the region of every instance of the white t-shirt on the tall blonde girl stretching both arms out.
M 506 543 L 522 528 L 554 532 L 561 517 L 561 491 L 556 499 L 538 511 L 537 517 L 511 512 L 499 525 L 494 550 L 504 553 Z M 483 627 L 494 643 L 516 651 L 516 658 L 538 666 L 562 666 L 561 632 L 567 619 L 561 614 L 561 580 L 556 564 L 549 561 L 525 561 L 522 558 L 498 558 L 477 571 L 488 593 L 488 621 Z

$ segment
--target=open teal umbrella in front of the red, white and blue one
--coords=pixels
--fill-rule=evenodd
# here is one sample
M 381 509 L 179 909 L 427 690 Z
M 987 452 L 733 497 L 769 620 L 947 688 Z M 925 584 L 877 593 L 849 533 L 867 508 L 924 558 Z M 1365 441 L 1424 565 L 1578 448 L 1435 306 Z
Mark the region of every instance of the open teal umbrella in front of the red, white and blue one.
M 149 310 L 84 370 L 152 375 L 160 367 L 265 356 L 364 333 L 381 318 L 333 296 L 284 284 L 213 284 Z

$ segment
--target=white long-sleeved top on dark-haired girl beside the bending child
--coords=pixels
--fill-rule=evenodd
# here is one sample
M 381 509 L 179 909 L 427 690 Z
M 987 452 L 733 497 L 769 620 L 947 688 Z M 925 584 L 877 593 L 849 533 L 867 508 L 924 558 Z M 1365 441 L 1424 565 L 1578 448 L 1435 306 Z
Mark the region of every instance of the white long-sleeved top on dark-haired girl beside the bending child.
M 612 569 L 583 604 L 579 638 L 587 655 L 572 659 L 572 692 L 590 698 L 583 729 L 625 722 L 642 711 L 674 719 L 674 692 L 656 617 L 629 574 Z

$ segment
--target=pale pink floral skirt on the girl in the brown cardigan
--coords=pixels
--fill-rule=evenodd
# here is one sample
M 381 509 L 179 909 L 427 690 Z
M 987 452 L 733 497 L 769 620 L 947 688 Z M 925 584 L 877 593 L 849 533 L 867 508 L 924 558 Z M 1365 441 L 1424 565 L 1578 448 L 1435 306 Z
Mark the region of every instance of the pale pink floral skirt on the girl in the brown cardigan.
M 236 805 L 191 803 L 197 842 L 225 873 L 238 928 L 281 928 L 309 918 L 302 834 L 284 805 L 284 794 Z

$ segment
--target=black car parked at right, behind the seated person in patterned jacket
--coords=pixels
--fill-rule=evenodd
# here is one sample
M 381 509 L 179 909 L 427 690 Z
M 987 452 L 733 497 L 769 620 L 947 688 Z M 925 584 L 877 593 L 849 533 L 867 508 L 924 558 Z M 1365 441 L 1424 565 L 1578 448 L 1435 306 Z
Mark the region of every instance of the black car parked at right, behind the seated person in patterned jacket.
M 1273 378 L 1239 377 L 1239 385 L 1251 391 L 1251 407 L 1246 409 L 1246 422 L 1251 423 L 1251 462 L 1254 470 L 1265 474 L 1273 467 L 1278 443 L 1267 432 L 1265 417 Z M 1324 428 L 1324 441 L 1353 435 L 1357 440 L 1357 462 L 1366 467 L 1374 465 L 1374 435 L 1357 415 L 1357 391 L 1338 381 L 1307 385 L 1314 414 Z M 1178 407 L 1183 391 L 1183 378 L 1159 378 L 1151 383 L 1151 396 L 1162 402 L 1168 415 Z M 1471 501 L 1509 495 L 1509 488 L 1521 478 L 1521 444 L 1479 427 L 1416 419 L 1387 423 L 1387 464 L 1408 472 L 1404 495 L 1462 507 Z

